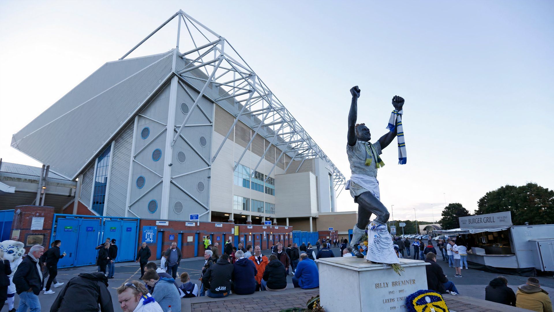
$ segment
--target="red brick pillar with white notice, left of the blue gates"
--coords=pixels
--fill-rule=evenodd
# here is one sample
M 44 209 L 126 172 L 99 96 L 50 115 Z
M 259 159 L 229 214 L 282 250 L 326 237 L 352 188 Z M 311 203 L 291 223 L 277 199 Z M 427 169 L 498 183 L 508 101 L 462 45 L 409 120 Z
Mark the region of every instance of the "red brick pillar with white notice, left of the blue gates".
M 42 227 L 40 227 L 41 218 L 44 218 Z M 17 206 L 13 214 L 11 239 L 22 242 L 27 251 L 35 244 L 40 244 L 48 249 L 53 220 L 54 207 Z M 33 221 L 37 229 L 32 230 Z

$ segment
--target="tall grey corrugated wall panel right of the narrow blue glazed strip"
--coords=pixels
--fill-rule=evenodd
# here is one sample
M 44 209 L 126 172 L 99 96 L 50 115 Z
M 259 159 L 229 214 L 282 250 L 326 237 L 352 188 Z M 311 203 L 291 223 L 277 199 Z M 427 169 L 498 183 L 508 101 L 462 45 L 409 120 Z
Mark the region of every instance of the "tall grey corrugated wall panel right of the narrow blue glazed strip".
M 107 191 L 106 215 L 125 215 L 133 128 L 132 124 L 129 125 L 114 142 L 114 150 L 111 154 L 110 189 Z

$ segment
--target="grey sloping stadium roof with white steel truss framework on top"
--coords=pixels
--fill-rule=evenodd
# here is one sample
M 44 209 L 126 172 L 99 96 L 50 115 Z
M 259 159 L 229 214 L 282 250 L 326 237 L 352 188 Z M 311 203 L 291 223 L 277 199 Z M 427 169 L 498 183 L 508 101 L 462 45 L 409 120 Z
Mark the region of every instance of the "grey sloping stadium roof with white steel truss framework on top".
M 125 59 L 175 18 L 178 19 L 176 48 Z M 181 36 L 181 32 L 187 36 Z M 179 49 L 182 42 L 186 43 L 186 52 Z M 271 145 L 282 150 L 275 163 L 284 154 L 292 160 L 301 160 L 298 168 L 305 159 L 321 158 L 333 173 L 335 189 L 345 184 L 340 170 L 227 39 L 181 10 L 118 61 L 104 64 L 19 130 L 13 135 L 11 145 L 49 164 L 50 170 L 61 177 L 74 180 L 174 76 L 182 85 L 199 92 L 198 97 L 191 95 L 194 104 L 190 110 L 202 110 L 197 104 L 200 98 L 207 97 L 235 117 L 228 135 L 238 120 L 255 130 L 242 156 L 259 134 L 270 142 L 265 152 Z M 175 139 L 187 122 L 188 117 L 176 127 Z M 225 140 L 214 151 L 211 162 L 217 158 Z

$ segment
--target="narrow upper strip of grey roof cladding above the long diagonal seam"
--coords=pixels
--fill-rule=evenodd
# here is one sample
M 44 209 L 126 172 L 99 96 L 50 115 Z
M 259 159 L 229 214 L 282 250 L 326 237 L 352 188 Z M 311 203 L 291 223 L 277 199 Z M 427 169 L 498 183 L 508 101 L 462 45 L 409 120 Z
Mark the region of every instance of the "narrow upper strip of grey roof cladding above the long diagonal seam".
M 69 110 L 95 97 L 95 95 L 112 87 L 112 85 L 120 82 L 121 80 L 135 74 L 142 68 L 156 62 L 168 53 L 171 52 L 140 58 L 124 59 L 122 61 L 104 64 L 88 78 L 83 80 L 83 82 L 71 89 L 42 114 L 38 115 L 37 118 L 26 125 L 23 129 L 19 130 L 18 133 L 14 134 L 14 138 L 19 140 L 25 137 L 25 135 L 28 135 L 34 130 L 43 127 L 43 125 L 52 122 L 52 120 L 60 117 L 60 115 L 69 112 Z

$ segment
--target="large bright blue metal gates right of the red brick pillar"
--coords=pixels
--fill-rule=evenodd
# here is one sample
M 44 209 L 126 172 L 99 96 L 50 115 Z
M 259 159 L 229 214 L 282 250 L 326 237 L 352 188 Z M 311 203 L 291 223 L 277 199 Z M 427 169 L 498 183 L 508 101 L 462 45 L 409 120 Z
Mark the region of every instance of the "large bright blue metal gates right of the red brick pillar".
M 60 251 L 66 256 L 58 262 L 58 268 L 94 265 L 98 250 L 96 246 L 106 238 L 115 239 L 115 261 L 134 260 L 137 250 L 136 218 L 92 217 L 88 215 L 54 214 L 50 243 L 61 240 Z

